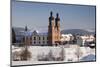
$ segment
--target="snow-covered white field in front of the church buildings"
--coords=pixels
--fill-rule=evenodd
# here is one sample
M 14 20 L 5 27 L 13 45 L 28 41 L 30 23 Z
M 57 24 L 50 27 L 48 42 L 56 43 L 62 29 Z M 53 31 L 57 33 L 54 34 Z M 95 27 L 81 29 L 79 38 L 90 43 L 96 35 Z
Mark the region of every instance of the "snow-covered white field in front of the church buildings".
M 20 51 L 22 47 L 12 47 L 12 53 Z M 61 56 L 61 51 L 64 50 L 63 61 L 38 61 L 38 56 L 47 56 L 50 51 L 57 58 Z M 93 61 L 95 60 L 95 49 L 89 47 L 79 47 L 77 45 L 70 46 L 30 46 L 28 50 L 32 57 L 27 61 L 13 61 L 12 65 L 27 65 L 27 64 L 45 64 L 45 63 L 61 63 L 61 62 L 78 62 L 78 61 Z M 13 57 L 12 57 L 13 58 Z

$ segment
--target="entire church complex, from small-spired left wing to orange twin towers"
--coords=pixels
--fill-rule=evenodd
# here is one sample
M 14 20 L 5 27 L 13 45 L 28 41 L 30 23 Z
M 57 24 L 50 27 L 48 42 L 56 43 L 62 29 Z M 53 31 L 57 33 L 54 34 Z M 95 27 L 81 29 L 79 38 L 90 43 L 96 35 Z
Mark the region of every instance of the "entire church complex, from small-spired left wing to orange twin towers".
M 16 34 L 16 43 L 34 46 L 53 46 L 60 44 L 61 34 L 59 14 L 57 13 L 56 17 L 54 17 L 53 12 L 51 11 L 48 21 L 47 32 L 39 32 L 37 30 L 29 31 L 26 26 L 24 31 L 19 31 L 19 34 Z

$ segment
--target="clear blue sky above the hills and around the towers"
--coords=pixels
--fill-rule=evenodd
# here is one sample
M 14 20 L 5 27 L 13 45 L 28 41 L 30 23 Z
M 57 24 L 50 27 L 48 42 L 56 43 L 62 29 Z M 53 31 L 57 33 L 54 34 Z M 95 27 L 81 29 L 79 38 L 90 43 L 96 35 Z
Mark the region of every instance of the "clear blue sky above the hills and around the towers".
M 50 11 L 60 16 L 61 29 L 95 29 L 95 6 L 12 1 L 12 26 L 47 30 Z

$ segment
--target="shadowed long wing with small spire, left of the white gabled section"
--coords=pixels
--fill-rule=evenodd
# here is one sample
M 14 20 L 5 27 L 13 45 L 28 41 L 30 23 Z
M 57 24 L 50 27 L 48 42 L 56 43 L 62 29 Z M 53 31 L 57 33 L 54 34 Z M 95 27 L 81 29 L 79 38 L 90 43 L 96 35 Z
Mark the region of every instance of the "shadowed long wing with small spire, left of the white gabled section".
M 25 27 L 24 31 L 18 31 L 16 32 L 16 45 L 31 45 L 32 44 L 32 32 L 30 32 L 27 29 L 27 26 Z

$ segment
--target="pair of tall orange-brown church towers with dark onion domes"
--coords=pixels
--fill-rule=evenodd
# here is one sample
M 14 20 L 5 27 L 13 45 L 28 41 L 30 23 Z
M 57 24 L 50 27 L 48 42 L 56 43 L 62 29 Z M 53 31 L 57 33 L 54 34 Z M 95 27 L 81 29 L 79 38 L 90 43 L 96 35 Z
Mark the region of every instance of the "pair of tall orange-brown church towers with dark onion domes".
M 53 17 L 52 11 L 50 12 L 49 25 L 48 25 L 48 44 L 55 45 L 60 42 L 60 18 L 59 14 L 56 14 L 56 18 Z

